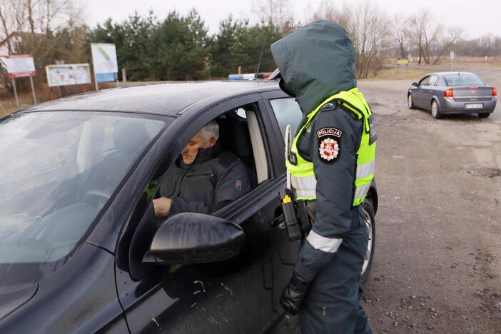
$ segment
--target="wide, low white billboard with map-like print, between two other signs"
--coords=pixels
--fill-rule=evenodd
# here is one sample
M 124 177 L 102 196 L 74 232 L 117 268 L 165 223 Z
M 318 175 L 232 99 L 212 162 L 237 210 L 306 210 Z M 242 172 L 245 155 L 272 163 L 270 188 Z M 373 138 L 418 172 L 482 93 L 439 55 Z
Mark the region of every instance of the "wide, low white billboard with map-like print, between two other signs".
M 88 64 L 49 65 L 45 71 L 49 87 L 91 83 L 91 66 Z

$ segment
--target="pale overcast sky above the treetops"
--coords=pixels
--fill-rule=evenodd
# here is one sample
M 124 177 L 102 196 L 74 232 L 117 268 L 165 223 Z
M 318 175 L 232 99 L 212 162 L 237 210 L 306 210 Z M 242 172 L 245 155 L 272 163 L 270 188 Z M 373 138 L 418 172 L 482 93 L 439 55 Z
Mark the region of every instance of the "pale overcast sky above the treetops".
M 350 3 L 363 1 L 351 0 Z M 501 36 L 501 0 L 371 0 L 378 8 L 388 14 L 412 14 L 427 8 L 433 11 L 435 19 L 446 27 L 460 27 L 464 38 L 475 38 L 485 34 Z M 83 19 L 88 26 L 94 27 L 108 17 L 113 21 L 123 21 L 138 11 L 147 14 L 153 9 L 158 19 L 165 19 L 169 11 L 176 9 L 186 14 L 195 7 L 206 21 L 209 32 L 218 31 L 219 21 L 233 14 L 236 18 L 249 18 L 255 21 L 252 0 L 80 0 L 83 6 Z M 313 13 L 321 0 L 291 0 L 295 16 L 304 23 L 305 17 Z M 335 5 L 344 1 L 332 1 Z

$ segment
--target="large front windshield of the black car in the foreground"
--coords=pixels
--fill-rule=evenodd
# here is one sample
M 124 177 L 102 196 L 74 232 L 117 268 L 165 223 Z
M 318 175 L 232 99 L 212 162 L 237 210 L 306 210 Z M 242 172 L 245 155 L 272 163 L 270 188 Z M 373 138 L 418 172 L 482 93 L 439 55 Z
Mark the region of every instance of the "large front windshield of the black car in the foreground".
M 165 125 L 145 116 L 74 111 L 1 121 L 0 263 L 69 255 Z

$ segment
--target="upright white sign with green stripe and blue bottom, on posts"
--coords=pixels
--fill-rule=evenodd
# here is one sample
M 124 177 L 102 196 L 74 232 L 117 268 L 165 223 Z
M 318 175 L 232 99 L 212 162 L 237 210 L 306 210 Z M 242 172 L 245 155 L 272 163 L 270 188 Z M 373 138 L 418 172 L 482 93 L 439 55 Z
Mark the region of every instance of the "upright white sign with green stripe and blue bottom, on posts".
M 91 43 L 92 65 L 96 91 L 100 82 L 116 81 L 118 87 L 118 61 L 115 44 Z

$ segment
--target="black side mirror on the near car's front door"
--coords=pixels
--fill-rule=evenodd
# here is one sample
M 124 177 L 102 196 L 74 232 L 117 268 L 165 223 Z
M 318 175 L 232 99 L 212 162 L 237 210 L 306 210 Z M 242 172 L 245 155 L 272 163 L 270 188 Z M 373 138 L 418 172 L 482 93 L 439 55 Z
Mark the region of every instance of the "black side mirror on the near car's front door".
M 240 226 L 202 213 L 178 213 L 158 228 L 143 263 L 192 264 L 228 260 L 242 249 Z

